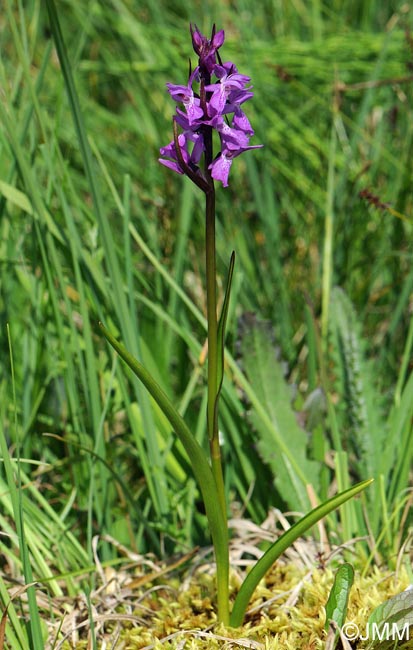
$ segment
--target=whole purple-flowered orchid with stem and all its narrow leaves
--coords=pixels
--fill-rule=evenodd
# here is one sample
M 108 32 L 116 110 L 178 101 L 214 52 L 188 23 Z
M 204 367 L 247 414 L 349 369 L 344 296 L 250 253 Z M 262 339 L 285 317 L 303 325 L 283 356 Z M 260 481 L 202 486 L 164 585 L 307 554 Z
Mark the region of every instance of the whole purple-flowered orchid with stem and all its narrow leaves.
M 253 97 L 250 77 L 238 72 L 231 61 L 222 62 L 219 49 L 224 44 L 223 30 L 212 28 L 207 38 L 191 25 L 192 45 L 198 65 L 189 70 L 187 84 L 167 84 L 178 104 L 173 119 L 173 140 L 160 149 L 160 162 L 187 176 L 205 195 L 205 265 L 208 324 L 208 401 L 206 426 L 209 453 L 197 442 L 185 420 L 150 373 L 101 324 L 103 334 L 145 385 L 171 427 L 181 440 L 191 463 L 205 506 L 216 561 L 217 614 L 224 625 L 242 624 L 253 591 L 275 560 L 322 517 L 361 492 L 371 481 L 364 481 L 325 501 L 279 537 L 258 560 L 238 590 L 232 608 L 229 594 L 229 535 L 224 475 L 218 431 L 219 396 L 224 377 L 224 341 L 235 254 L 229 263 L 222 308 L 217 313 L 217 272 L 215 249 L 215 185 L 228 186 L 234 158 L 263 145 L 249 145 L 254 135 L 243 106 Z M 219 150 L 214 155 L 214 132 Z M 216 137 L 216 136 L 215 136 Z

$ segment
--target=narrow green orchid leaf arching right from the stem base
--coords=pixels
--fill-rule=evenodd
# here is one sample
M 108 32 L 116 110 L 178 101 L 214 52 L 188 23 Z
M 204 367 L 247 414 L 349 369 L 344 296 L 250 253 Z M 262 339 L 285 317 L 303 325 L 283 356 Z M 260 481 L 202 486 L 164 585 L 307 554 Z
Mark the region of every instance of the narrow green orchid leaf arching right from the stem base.
M 311 526 L 314 526 L 320 519 L 328 515 L 332 510 L 335 510 L 343 503 L 351 499 L 364 490 L 373 479 L 368 479 L 361 483 L 357 483 L 353 487 L 336 494 L 336 496 L 328 499 L 317 508 L 314 508 L 307 515 L 297 521 L 289 530 L 287 530 L 281 537 L 277 539 L 272 546 L 264 553 L 264 555 L 253 566 L 241 588 L 234 602 L 232 609 L 230 624 L 232 627 L 239 627 L 243 620 L 245 611 L 247 609 L 250 598 L 257 587 L 260 580 L 264 577 L 267 571 L 272 567 L 274 562 L 280 557 L 284 551 L 289 548 L 296 539 L 301 537 Z

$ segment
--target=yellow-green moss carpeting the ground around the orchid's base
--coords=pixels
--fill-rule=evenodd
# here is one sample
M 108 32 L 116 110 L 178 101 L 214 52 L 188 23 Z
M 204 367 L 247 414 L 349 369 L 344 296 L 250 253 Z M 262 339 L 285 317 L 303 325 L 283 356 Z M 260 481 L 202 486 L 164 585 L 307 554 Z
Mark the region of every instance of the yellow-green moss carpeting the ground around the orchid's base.
M 142 572 L 141 567 L 139 575 L 130 571 L 120 571 L 115 576 L 110 573 L 108 583 L 91 595 L 96 647 L 102 650 L 322 649 L 326 642 L 325 603 L 335 567 L 332 563 L 315 566 L 315 559 L 311 567 L 309 558 L 317 557 L 316 547 L 309 541 L 306 551 L 301 559 L 298 553 L 290 553 L 265 576 L 250 602 L 245 625 L 238 629 L 226 629 L 217 623 L 214 567 L 204 562 L 202 554 L 193 557 L 185 569 L 161 564 L 152 565 L 150 573 L 145 573 L 145 569 Z M 233 566 L 237 565 L 236 557 L 232 558 Z M 373 609 L 403 591 L 409 585 L 409 578 L 404 569 L 396 576 L 377 567 L 362 577 L 357 572 L 360 564 L 355 564 L 347 622 L 357 625 L 364 636 Z M 232 598 L 240 579 L 240 571 L 234 571 Z M 81 598 L 73 603 L 73 599 L 66 597 L 65 604 L 62 628 L 57 630 L 56 617 L 54 632 L 50 624 L 50 639 L 56 635 L 70 639 L 57 646 L 63 650 L 92 647 L 86 603 Z M 353 642 L 352 648 L 361 650 L 365 645 L 361 641 Z

